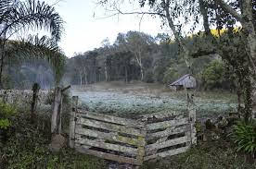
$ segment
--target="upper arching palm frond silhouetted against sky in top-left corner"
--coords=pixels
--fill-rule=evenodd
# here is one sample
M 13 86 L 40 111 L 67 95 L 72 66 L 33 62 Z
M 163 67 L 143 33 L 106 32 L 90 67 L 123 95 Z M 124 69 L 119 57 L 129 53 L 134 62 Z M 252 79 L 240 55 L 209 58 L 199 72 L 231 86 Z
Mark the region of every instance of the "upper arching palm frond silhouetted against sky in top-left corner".
M 63 31 L 63 20 L 54 6 L 38 0 L 4 0 L 0 6 L 0 24 L 3 23 L 6 23 L 6 28 L 0 31 L 0 36 L 6 31 L 36 28 L 49 30 L 58 42 Z

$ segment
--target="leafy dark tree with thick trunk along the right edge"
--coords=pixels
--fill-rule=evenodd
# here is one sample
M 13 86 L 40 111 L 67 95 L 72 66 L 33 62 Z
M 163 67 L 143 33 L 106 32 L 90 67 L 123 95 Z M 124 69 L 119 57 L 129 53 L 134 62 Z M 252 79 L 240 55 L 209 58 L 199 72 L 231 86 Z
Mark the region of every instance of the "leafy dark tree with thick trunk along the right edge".
M 212 48 L 234 66 L 235 73 L 243 87 L 245 100 L 245 119 L 256 117 L 256 33 L 255 0 L 199 0 L 204 29 Z M 214 20 L 212 22 L 212 20 Z M 240 23 L 241 29 L 234 31 L 234 25 Z M 210 30 L 212 25 L 217 30 L 228 29 L 220 40 L 214 39 Z M 241 49 L 242 48 L 242 49 Z M 245 49 L 245 50 L 244 50 Z M 230 54 L 230 55 L 229 55 Z

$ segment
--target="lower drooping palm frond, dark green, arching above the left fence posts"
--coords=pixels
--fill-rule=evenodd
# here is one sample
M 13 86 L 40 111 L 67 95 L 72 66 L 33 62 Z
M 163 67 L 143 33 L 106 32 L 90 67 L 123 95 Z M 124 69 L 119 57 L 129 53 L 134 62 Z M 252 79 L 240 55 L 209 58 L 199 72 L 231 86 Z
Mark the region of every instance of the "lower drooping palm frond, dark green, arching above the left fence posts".
M 65 55 L 58 48 L 58 44 L 54 39 L 46 36 L 39 38 L 38 36 L 31 35 L 29 38 L 21 39 L 20 41 L 8 41 L 6 55 L 22 59 L 45 59 L 52 66 L 57 83 L 62 77 Z

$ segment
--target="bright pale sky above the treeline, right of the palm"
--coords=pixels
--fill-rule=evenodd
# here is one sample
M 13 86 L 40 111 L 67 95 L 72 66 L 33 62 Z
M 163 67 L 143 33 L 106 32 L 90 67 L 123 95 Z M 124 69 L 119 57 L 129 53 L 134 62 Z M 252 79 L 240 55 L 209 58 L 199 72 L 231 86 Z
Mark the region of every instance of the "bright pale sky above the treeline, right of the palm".
M 56 1 L 46 0 L 50 5 Z M 62 0 L 56 9 L 66 22 L 65 34 L 59 44 L 68 57 L 100 47 L 106 38 L 114 42 L 119 32 L 139 30 L 138 16 L 104 18 L 109 14 L 102 6 L 96 6 L 96 0 Z M 140 30 L 152 36 L 164 31 L 160 29 L 160 19 L 149 16 L 143 18 Z

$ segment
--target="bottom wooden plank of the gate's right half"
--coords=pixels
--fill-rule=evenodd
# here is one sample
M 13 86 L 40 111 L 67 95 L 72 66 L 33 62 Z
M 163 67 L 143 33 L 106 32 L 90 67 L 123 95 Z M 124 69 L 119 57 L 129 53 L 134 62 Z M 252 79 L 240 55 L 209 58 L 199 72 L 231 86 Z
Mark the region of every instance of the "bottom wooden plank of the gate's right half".
M 144 158 L 144 161 L 147 161 L 147 160 L 150 160 L 150 159 L 155 159 L 157 157 L 163 158 L 163 157 L 167 157 L 167 156 L 176 155 L 176 154 L 179 154 L 179 153 L 186 152 L 188 149 L 189 149 L 189 147 L 186 146 L 186 147 L 178 148 L 178 149 L 171 150 L 171 151 L 163 151 L 163 152 L 160 152 L 160 153 L 157 153 L 157 154 L 146 156 Z

